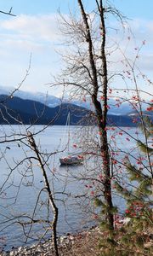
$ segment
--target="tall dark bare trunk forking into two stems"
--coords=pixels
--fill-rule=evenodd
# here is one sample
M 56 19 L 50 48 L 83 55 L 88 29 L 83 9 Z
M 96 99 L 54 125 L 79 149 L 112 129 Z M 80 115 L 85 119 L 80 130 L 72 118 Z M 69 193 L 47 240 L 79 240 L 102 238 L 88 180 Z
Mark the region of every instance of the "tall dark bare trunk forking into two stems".
M 96 112 L 96 119 L 99 126 L 99 137 L 101 144 L 101 154 L 103 158 L 103 172 L 105 173 L 105 183 L 104 183 L 104 195 L 105 202 L 107 205 L 107 213 L 106 213 L 106 221 L 109 224 L 111 230 L 113 230 L 113 214 L 112 214 L 112 198 L 111 198 L 111 170 L 110 170 L 110 155 L 109 155 L 109 147 L 107 141 L 107 131 L 106 128 L 106 119 L 107 119 L 107 88 L 108 88 L 108 79 L 107 79 L 107 62 L 105 57 L 105 18 L 104 18 L 104 8 L 102 0 L 99 2 L 96 0 L 98 9 L 99 9 L 99 17 L 101 21 L 101 30 L 103 38 L 101 40 L 101 77 L 102 77 L 102 96 L 104 99 L 103 108 L 101 108 L 101 103 L 98 101 L 98 92 L 99 92 L 99 81 L 97 77 L 97 67 L 94 61 L 94 47 L 93 41 L 90 34 L 90 27 L 88 25 L 88 15 L 86 14 L 82 0 L 78 0 L 78 4 L 81 9 L 82 19 L 86 29 L 86 41 L 88 43 L 88 55 L 89 62 L 92 71 L 92 84 L 94 87 L 94 94 L 92 96 L 92 101 L 94 103 L 94 108 Z

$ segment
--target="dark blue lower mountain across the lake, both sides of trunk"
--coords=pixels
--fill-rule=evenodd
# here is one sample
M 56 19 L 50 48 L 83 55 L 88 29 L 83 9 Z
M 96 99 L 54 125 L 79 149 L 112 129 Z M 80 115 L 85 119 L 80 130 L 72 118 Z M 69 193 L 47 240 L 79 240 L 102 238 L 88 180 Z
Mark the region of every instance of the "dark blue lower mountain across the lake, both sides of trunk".
M 93 112 L 71 103 L 49 108 L 41 102 L 0 95 L 0 124 L 65 125 L 68 113 L 70 125 L 95 125 Z M 88 118 L 89 117 L 89 118 Z M 108 125 L 135 126 L 127 115 L 108 115 Z

